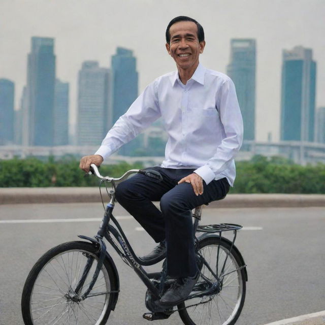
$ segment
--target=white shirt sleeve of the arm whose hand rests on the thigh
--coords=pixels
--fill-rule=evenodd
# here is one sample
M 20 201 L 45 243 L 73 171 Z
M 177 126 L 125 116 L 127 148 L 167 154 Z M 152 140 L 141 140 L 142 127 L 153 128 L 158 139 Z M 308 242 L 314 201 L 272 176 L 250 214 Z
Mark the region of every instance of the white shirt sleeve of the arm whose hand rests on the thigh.
M 235 85 L 230 78 L 221 84 L 217 92 L 216 107 L 224 128 L 224 137 L 215 155 L 207 161 L 206 165 L 194 171 L 204 179 L 206 184 L 230 167 L 243 142 L 243 119 Z

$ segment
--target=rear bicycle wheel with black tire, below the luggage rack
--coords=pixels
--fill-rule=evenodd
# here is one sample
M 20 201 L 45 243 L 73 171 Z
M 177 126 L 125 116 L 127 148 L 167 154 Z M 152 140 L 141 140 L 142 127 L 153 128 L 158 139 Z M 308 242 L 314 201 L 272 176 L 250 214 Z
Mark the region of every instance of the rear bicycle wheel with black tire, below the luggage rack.
M 204 256 L 212 270 L 216 273 L 217 248 L 219 245 L 219 261 L 218 261 L 218 278 L 226 254 L 229 256 L 226 260 L 226 265 L 223 277 L 222 288 L 219 293 L 203 298 L 194 298 L 185 301 L 178 306 L 179 315 L 186 325 L 233 325 L 237 321 L 242 308 L 244 306 L 246 295 L 246 280 L 244 269 L 239 269 L 242 266 L 241 259 L 234 249 L 231 249 L 231 244 L 219 239 L 217 236 L 210 236 L 202 239 L 198 244 L 198 250 Z M 226 275 L 226 273 L 237 270 Z M 203 265 L 201 273 L 214 280 L 215 277 Z M 198 282 L 204 281 L 200 275 Z M 198 304 L 202 302 L 201 304 Z M 195 305 L 193 307 L 187 307 Z M 185 307 L 185 308 L 184 308 Z

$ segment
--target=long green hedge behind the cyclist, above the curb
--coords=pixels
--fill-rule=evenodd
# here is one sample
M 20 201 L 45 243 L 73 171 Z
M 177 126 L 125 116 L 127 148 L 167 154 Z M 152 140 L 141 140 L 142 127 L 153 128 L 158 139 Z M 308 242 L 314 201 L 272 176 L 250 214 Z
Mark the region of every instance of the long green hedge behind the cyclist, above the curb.
M 133 168 L 122 162 L 103 165 L 102 175 L 117 177 Z M 237 161 L 235 186 L 230 193 L 325 193 L 325 165 L 300 166 L 273 157 L 254 156 L 249 161 Z M 96 177 L 84 177 L 75 158 L 47 161 L 37 158 L 0 160 L 0 187 L 96 186 Z

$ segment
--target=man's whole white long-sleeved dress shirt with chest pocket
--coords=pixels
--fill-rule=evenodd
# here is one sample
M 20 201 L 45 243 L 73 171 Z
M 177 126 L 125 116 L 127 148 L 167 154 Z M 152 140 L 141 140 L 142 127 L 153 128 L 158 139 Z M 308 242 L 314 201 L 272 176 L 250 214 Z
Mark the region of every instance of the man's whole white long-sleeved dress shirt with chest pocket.
M 186 85 L 177 71 L 155 79 L 116 121 L 95 154 L 106 159 L 159 117 L 169 136 L 161 167 L 193 168 L 207 184 L 226 177 L 233 186 L 243 121 L 228 76 L 199 64 Z

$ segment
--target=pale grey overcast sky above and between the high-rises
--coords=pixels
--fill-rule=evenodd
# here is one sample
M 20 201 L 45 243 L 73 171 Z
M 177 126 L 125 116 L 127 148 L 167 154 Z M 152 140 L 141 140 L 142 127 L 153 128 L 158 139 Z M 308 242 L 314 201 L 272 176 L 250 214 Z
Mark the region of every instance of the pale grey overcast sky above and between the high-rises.
M 84 60 L 110 67 L 117 46 L 134 50 L 139 91 L 175 70 L 165 29 L 179 15 L 198 20 L 206 42 L 200 61 L 226 72 L 232 38 L 254 38 L 256 139 L 279 139 L 282 49 L 313 49 L 316 106 L 325 106 L 325 0 L 0 0 L 0 78 L 15 82 L 19 107 L 32 36 L 55 38 L 56 75 L 70 83 L 76 117 L 77 74 Z

